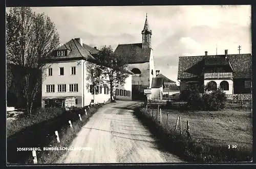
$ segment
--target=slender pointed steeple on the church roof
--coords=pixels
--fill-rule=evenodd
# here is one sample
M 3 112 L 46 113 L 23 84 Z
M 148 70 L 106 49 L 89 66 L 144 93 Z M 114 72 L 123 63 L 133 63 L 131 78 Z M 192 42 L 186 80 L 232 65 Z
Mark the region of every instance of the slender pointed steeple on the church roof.
M 151 48 L 151 35 L 152 31 L 150 30 L 150 27 L 147 23 L 147 14 L 146 14 L 146 20 L 144 24 L 144 29 L 141 31 L 142 34 L 142 49 L 148 49 Z

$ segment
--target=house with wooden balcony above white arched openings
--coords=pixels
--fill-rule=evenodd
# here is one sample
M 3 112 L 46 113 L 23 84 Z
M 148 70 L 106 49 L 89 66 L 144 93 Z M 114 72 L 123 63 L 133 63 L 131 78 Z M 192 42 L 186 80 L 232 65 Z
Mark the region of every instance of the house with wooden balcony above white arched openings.
M 180 91 L 191 84 L 211 84 L 226 94 L 250 95 L 251 54 L 187 56 L 179 57 L 178 80 Z

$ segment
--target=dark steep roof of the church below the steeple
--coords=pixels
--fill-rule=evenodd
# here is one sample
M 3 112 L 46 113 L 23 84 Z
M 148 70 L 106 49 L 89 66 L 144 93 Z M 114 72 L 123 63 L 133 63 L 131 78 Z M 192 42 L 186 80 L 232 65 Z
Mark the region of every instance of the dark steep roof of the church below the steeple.
M 145 63 L 150 61 L 151 49 L 142 49 L 142 43 L 119 44 L 114 54 L 126 58 L 127 63 Z

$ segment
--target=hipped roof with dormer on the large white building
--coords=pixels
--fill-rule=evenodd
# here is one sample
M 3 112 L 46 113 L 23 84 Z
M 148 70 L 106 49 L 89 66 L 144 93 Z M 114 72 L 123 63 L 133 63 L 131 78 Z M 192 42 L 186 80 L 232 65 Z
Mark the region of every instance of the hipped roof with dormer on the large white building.
M 68 50 L 68 54 L 67 56 L 56 56 L 57 50 Z M 81 44 L 75 39 L 71 39 L 67 43 L 58 47 L 52 53 L 51 57 L 45 58 L 44 60 L 65 60 L 74 58 L 88 59 L 90 61 L 95 60 L 95 58 L 91 55 L 90 51 L 86 47 L 81 46 Z

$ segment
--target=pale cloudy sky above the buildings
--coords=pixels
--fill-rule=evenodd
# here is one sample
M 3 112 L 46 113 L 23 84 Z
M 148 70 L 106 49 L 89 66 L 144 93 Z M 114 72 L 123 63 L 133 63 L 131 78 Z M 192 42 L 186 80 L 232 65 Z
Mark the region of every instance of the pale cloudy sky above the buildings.
M 251 6 L 32 7 L 55 23 L 60 43 L 82 38 L 98 48 L 141 43 L 147 21 L 152 30 L 155 69 L 177 82 L 182 56 L 251 54 Z M 179 85 L 179 83 L 177 82 Z

